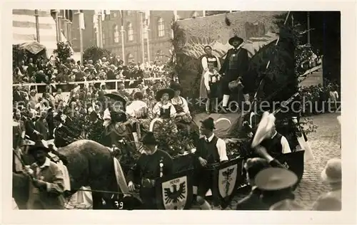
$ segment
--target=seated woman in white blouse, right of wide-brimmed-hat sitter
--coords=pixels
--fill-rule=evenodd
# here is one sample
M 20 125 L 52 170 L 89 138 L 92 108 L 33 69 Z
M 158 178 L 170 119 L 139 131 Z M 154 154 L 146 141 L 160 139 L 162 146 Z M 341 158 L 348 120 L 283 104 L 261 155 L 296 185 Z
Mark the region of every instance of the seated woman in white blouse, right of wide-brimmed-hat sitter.
M 199 138 L 198 126 L 193 122 L 191 113 L 188 110 L 187 101 L 180 96 L 182 90 L 181 85 L 174 82 L 171 83 L 170 88 L 175 91 L 174 98 L 171 99 L 171 104 L 174 105 L 176 109 L 176 125 L 178 129 L 186 130 L 188 134 L 192 136 L 194 144 L 196 145 Z

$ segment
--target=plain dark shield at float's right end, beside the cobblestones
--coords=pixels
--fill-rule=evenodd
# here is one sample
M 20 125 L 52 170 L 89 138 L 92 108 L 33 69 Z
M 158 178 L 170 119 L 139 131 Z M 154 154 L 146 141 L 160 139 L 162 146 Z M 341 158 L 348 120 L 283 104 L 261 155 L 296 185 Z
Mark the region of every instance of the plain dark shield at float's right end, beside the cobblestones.
M 297 152 L 290 152 L 277 157 L 276 159 L 283 164 L 286 169 L 291 170 L 298 176 L 298 182 L 296 183 L 293 189 L 298 187 L 302 177 L 303 177 L 303 169 L 304 169 L 304 154 L 305 151 L 297 151 Z

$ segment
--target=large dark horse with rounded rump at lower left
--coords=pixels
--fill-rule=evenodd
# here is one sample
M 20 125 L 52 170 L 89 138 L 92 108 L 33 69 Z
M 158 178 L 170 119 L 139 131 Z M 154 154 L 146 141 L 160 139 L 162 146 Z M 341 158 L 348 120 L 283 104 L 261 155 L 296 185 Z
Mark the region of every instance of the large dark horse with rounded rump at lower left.
M 114 156 L 104 145 L 92 140 L 77 140 L 66 147 L 59 148 L 56 155 L 69 171 L 71 191 L 64 192 L 64 197 L 71 197 L 81 187 L 91 187 L 91 190 L 94 190 L 92 191 L 93 209 L 104 209 L 102 199 L 113 199 L 114 194 L 111 193 L 119 192 Z M 22 157 L 27 159 L 28 164 L 34 162 L 31 155 L 24 153 Z M 26 209 L 28 193 L 29 177 L 23 173 L 13 172 L 13 197 L 19 209 Z M 105 207 L 113 209 L 114 201 L 112 202 L 106 201 Z

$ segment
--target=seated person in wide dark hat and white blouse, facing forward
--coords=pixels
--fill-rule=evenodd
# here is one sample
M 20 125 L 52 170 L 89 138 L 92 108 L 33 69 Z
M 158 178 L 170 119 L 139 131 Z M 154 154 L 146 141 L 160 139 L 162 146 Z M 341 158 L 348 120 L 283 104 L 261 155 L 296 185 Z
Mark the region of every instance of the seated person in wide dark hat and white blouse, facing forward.
M 163 88 L 156 93 L 156 100 L 158 103 L 154 106 L 153 114 L 156 118 L 164 120 L 165 127 L 171 127 L 172 132 L 177 132 L 177 127 L 172 124 L 173 119 L 176 117 L 176 109 L 171 103 L 171 99 L 174 98 L 175 91 L 171 88 Z

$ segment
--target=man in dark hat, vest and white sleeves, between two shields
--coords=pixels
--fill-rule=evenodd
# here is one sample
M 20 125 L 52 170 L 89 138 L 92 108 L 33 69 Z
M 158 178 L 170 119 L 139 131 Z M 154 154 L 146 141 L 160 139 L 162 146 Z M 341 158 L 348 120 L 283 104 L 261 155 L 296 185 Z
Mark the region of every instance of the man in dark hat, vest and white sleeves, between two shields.
M 196 175 L 198 179 L 197 185 L 197 203 L 201 209 L 211 209 L 211 206 L 206 202 L 206 192 L 213 187 L 213 176 L 209 169 L 212 169 L 214 164 L 228 160 L 226 152 L 226 143 L 221 138 L 214 135 L 213 118 L 208 117 L 201 121 L 201 137 L 198 141 L 196 155 Z M 213 197 L 214 198 L 214 197 Z M 215 203 L 216 204 L 216 203 Z

